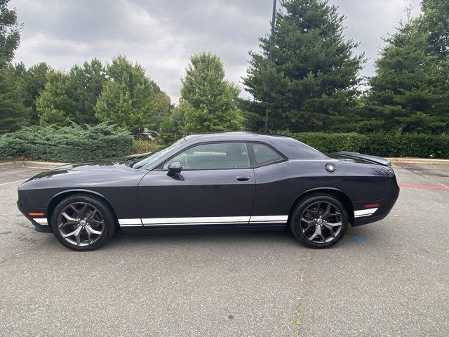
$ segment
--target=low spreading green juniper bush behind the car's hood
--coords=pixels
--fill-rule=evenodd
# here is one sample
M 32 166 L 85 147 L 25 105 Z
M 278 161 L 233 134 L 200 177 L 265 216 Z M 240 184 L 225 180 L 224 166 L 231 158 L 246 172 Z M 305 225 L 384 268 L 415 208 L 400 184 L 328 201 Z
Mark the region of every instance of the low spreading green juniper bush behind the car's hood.
M 106 123 L 96 126 L 25 126 L 0 136 L 0 159 L 25 157 L 81 161 L 130 154 L 131 133 Z

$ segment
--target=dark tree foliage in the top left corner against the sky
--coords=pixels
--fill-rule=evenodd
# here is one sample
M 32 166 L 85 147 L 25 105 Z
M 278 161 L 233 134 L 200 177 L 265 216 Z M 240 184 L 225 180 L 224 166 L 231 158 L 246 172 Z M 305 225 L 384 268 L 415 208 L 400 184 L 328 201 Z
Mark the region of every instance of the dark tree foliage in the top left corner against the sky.
M 8 9 L 10 0 L 0 0 L 0 68 L 13 60 L 20 43 L 20 25 L 15 9 Z

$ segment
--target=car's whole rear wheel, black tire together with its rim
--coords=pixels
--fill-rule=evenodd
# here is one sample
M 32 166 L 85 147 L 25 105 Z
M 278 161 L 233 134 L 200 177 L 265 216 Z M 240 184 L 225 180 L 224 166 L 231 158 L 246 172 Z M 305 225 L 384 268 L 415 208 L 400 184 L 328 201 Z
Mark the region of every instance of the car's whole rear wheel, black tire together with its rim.
M 328 205 L 331 205 L 329 210 Z M 297 203 L 290 216 L 290 230 L 296 239 L 315 249 L 337 244 L 344 237 L 348 224 L 346 208 L 329 194 L 309 194 Z

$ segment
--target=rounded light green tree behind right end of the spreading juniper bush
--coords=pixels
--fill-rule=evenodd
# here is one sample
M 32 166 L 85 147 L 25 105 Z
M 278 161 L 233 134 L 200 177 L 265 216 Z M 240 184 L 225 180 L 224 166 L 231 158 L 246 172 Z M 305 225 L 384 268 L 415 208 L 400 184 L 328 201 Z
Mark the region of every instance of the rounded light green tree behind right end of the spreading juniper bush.
M 145 69 L 118 56 L 107 67 L 109 80 L 95 105 L 100 121 L 112 121 L 134 133 L 154 128 L 154 91 Z

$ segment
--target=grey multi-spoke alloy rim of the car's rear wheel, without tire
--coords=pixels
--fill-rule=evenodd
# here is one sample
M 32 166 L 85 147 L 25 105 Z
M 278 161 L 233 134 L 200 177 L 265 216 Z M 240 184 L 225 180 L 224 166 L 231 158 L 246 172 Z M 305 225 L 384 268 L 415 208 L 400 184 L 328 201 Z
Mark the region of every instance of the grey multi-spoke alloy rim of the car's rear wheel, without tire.
M 316 244 L 333 241 L 342 230 L 341 211 L 327 201 L 307 206 L 301 215 L 300 229 L 306 239 Z

